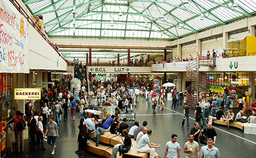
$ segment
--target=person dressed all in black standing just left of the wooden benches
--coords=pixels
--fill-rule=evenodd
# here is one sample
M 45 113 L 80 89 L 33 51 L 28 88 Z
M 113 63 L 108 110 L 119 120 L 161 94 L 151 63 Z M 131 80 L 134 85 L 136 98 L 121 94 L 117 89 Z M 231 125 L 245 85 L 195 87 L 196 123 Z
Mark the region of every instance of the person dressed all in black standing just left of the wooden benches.
M 86 142 L 87 142 L 87 133 L 88 133 L 88 126 L 84 123 L 85 118 L 81 117 L 80 124 L 78 124 L 79 134 L 78 134 L 78 150 L 75 152 L 77 154 L 82 153 L 85 155 L 86 150 Z

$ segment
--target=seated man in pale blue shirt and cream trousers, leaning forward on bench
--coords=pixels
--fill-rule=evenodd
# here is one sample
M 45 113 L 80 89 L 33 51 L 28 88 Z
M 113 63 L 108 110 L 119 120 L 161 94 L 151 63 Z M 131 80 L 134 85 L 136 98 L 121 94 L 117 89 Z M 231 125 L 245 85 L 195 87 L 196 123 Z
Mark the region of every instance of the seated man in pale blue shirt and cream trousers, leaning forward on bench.
M 152 130 L 149 129 L 147 134 L 144 134 L 138 145 L 137 145 L 137 148 L 138 148 L 138 152 L 140 153 L 150 153 L 150 158 L 153 158 L 154 156 L 156 156 L 156 151 L 154 150 L 156 147 L 160 147 L 159 144 L 154 144 L 152 142 L 150 142 L 150 136 L 152 135 Z

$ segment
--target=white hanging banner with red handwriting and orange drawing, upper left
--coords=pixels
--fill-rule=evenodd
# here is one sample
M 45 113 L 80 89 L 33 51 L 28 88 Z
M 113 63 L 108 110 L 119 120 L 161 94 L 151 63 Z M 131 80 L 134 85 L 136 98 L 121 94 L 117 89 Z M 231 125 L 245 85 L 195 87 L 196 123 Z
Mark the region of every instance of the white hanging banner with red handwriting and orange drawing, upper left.
M 0 3 L 0 73 L 29 73 L 28 26 L 8 0 Z

